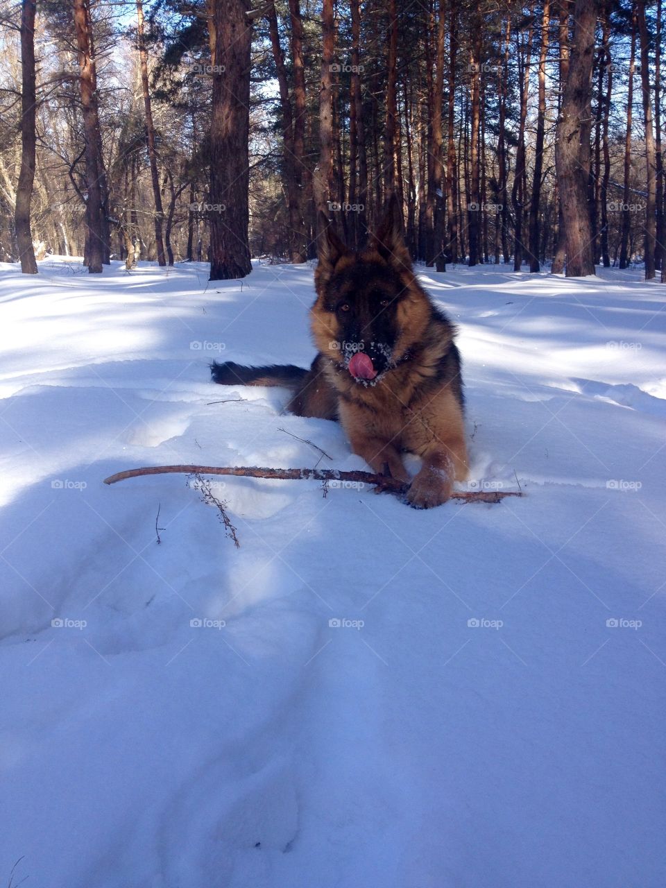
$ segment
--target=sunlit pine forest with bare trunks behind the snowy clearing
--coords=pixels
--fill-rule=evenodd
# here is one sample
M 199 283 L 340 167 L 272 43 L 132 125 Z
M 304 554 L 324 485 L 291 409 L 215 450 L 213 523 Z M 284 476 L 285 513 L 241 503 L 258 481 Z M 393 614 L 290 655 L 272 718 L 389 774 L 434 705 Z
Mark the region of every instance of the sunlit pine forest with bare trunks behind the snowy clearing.
M 664 275 L 662 0 L 0 5 L 0 260 L 131 268 L 360 247 Z

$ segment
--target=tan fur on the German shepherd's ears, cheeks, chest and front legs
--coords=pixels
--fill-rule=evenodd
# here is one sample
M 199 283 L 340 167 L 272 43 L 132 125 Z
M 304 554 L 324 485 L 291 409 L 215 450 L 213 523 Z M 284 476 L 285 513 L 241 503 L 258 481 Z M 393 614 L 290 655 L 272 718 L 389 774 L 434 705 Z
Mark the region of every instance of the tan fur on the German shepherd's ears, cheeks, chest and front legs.
M 454 330 L 448 325 L 444 336 L 429 336 L 431 303 L 416 281 L 394 215 L 385 222 L 375 241 L 385 249 L 380 252 L 370 247 L 354 254 L 345 250 L 335 236 L 323 235 L 314 275 L 314 343 L 321 355 L 329 359 L 323 363 L 322 371 L 337 392 L 338 416 L 353 452 L 374 472 L 383 472 L 388 466 L 394 478 L 406 482 L 409 476 L 401 451 L 421 456 L 423 466 L 411 482 L 408 501 L 416 507 L 429 508 L 444 503 L 454 480 L 464 480 L 468 473 L 463 409 L 449 380 L 432 382 L 453 342 Z M 334 344 L 339 343 L 341 330 L 335 313 L 327 309 L 327 291 L 335 287 L 336 277 L 345 267 L 377 262 L 391 265 L 399 274 L 407 297 L 400 301 L 397 312 L 400 335 L 392 351 L 397 366 L 377 385 L 363 386 L 340 369 L 340 352 Z M 417 359 L 398 362 L 409 350 L 417 354 Z

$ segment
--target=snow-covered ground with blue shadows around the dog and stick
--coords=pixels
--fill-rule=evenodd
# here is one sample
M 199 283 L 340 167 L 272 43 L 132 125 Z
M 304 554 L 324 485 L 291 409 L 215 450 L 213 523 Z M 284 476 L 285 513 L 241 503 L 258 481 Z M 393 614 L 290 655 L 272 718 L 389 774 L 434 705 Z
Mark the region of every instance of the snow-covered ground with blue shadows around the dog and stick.
M 666 287 L 424 269 L 473 481 L 527 497 L 218 480 L 235 549 L 185 476 L 102 480 L 364 467 L 209 382 L 312 359 L 312 269 L 80 272 L 0 266 L 0 883 L 662 888 Z

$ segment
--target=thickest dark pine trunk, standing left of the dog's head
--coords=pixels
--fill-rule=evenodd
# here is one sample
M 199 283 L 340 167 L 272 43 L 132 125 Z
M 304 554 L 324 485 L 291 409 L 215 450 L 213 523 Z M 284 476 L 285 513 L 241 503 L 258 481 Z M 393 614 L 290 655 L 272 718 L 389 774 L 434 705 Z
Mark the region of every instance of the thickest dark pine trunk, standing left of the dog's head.
M 210 280 L 250 274 L 250 44 L 248 0 L 209 0 Z

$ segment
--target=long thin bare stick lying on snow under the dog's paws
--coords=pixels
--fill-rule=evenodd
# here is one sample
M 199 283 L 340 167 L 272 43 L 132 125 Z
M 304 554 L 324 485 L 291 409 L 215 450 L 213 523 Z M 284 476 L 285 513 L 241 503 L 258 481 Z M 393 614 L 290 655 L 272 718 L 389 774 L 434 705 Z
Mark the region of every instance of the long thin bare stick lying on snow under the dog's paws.
M 218 465 L 149 465 L 142 469 L 128 469 L 116 472 L 104 479 L 105 484 L 115 484 L 126 478 L 139 478 L 141 475 L 166 475 L 178 472 L 184 475 L 238 475 L 243 478 L 276 478 L 281 480 L 300 481 L 355 481 L 371 484 L 377 490 L 392 494 L 405 494 L 408 485 L 396 478 L 376 475 L 374 472 L 340 472 L 337 469 L 261 469 L 256 466 Z M 521 490 L 454 490 L 451 499 L 462 500 L 464 503 L 499 503 L 505 496 L 525 496 Z

